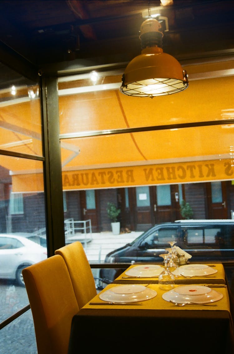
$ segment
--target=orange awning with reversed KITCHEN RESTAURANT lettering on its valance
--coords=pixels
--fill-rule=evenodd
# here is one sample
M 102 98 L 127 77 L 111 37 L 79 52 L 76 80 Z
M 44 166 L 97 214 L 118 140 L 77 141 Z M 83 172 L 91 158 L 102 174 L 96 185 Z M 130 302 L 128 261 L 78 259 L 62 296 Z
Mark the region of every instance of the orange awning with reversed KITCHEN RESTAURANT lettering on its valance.
M 227 65 L 234 67 L 233 62 L 224 62 L 223 67 L 216 69 L 227 69 Z M 209 70 L 212 68 L 211 65 Z M 196 70 L 199 72 L 197 67 L 193 67 L 195 76 Z M 202 70 L 205 70 L 204 65 Z M 199 75 L 205 77 L 206 73 L 202 70 Z M 230 119 L 234 119 L 233 76 L 194 79 L 184 92 L 154 99 L 127 97 L 121 95 L 118 89 L 68 95 L 65 83 L 62 90 L 63 95 L 61 92 L 59 94 L 61 138 L 72 133 L 79 135 L 83 132 L 85 136 L 88 135 L 85 132 L 100 131 L 98 136 L 61 139 L 65 190 L 233 178 L 234 124 L 229 124 Z M 13 111 L 12 108 L 4 108 L 5 115 L 8 109 L 8 116 L 13 116 L 9 127 L 12 141 L 15 131 L 11 128 L 20 124 L 23 111 L 27 111 L 22 103 L 18 108 L 17 104 Z M 201 122 L 209 124 L 216 121 L 228 124 L 167 129 L 168 125 L 174 124 L 199 125 Z M 150 127 L 161 125 L 165 126 L 164 129 L 150 130 Z M 102 134 L 107 129 L 140 127 L 149 127 L 149 131 Z M 14 150 L 40 153 L 37 147 L 40 143 L 38 124 L 33 125 L 25 120 L 23 128 L 24 131 L 17 132 L 19 144 Z M 3 137 L 5 129 L 0 127 Z M 28 138 L 31 141 L 23 143 Z M 10 144 L 10 141 L 5 143 Z M 26 160 L 24 164 L 14 161 L 9 165 L 8 159 L 5 162 L 2 159 L 1 165 L 12 171 L 14 192 L 30 192 L 43 187 L 41 167 L 31 169 L 28 163 Z M 30 175 L 35 173 L 37 177 L 31 178 L 30 183 Z

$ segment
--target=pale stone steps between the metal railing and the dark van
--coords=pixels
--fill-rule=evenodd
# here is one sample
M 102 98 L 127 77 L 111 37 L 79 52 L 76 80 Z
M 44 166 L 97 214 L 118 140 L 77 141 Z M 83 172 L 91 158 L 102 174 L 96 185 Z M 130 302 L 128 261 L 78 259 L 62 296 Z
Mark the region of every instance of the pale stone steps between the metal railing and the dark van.
M 111 231 L 92 233 L 92 240 L 87 242 L 86 247 L 83 244 L 89 263 L 103 263 L 107 253 L 132 242 L 142 233 L 143 231 L 119 235 L 113 235 Z

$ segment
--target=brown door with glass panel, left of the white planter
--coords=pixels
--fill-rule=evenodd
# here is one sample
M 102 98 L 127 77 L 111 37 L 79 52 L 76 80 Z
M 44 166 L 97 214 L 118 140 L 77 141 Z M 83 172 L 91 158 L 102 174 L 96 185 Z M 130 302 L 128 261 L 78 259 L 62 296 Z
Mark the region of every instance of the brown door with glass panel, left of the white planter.
M 82 220 L 91 219 L 92 232 L 99 232 L 99 191 L 95 189 L 80 191 Z

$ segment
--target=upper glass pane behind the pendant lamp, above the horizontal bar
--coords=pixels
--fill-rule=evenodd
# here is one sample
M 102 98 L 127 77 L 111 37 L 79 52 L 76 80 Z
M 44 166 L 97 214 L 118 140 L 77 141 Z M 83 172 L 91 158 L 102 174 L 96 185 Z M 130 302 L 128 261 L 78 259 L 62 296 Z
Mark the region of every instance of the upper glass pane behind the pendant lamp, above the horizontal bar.
M 91 72 L 59 78 L 59 110 L 63 112 L 60 115 L 60 133 L 125 129 L 126 121 L 130 127 L 203 121 L 204 116 L 200 112 L 206 112 L 206 121 L 228 120 L 233 116 L 233 110 L 230 109 L 232 107 L 232 104 L 230 104 L 230 92 L 233 90 L 232 76 L 193 80 L 193 82 L 190 82 L 192 89 L 185 90 L 182 95 L 159 97 L 157 99 L 157 117 L 160 117 L 160 120 L 157 120 L 155 119 L 154 99 L 140 99 L 139 104 L 137 98 L 133 97 L 131 99 L 119 92 L 122 74 L 123 70 L 111 72 L 111 74 L 98 72 L 99 77 L 95 82 L 91 80 Z M 222 96 L 220 96 L 218 87 L 225 87 Z M 87 102 L 89 102 L 89 107 L 92 107 L 91 109 L 87 107 Z M 184 102 L 190 102 L 192 109 L 189 112 L 181 109 Z M 212 104 L 213 102 L 215 104 Z M 71 119 L 71 117 L 77 116 L 79 119 Z M 118 119 L 116 119 L 116 116 L 118 116 Z M 172 133 L 166 130 L 162 132 L 166 135 Z M 199 135 L 196 135 L 196 137 L 200 142 Z M 184 141 L 184 138 L 183 136 L 178 141 L 183 149 L 184 144 L 181 144 L 181 141 Z M 211 137 L 206 135 L 206 138 L 210 139 Z M 176 140 L 172 139 L 172 141 L 173 147 Z M 186 141 L 189 141 L 187 137 Z M 157 147 L 161 146 L 158 142 L 155 145 Z M 233 143 L 230 145 L 233 145 Z M 209 146 L 212 145 L 207 144 L 207 148 Z

